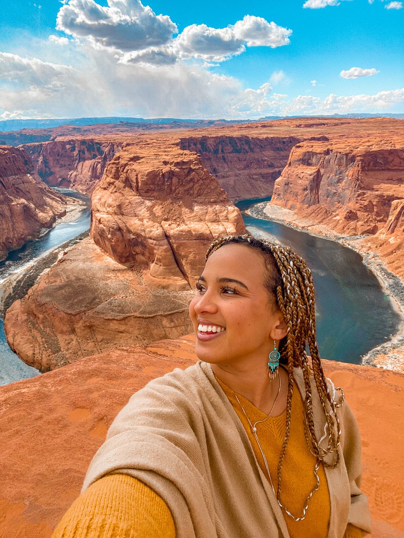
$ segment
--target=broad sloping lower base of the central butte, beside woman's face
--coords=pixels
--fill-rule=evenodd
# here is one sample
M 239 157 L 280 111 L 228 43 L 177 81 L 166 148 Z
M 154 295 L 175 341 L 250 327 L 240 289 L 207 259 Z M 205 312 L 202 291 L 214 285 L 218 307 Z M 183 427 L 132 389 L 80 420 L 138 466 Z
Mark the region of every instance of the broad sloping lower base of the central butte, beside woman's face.
M 84 239 L 6 311 L 8 342 L 24 362 L 48 371 L 190 331 L 190 291 L 153 291 L 144 280 Z

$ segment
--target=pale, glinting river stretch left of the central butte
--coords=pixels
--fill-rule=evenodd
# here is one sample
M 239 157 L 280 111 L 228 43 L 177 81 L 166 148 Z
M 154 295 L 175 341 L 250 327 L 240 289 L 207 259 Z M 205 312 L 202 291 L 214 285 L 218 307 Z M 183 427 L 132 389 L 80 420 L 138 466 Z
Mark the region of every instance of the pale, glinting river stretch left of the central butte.
M 0 261 L 0 285 L 10 274 L 23 271 L 35 258 L 44 256 L 46 252 L 89 229 L 90 199 L 76 190 L 55 190 L 85 202 L 86 206 L 82 213 L 76 221 L 61 222 L 39 239 L 30 241 L 20 249 L 10 252 L 5 260 Z M 34 377 L 38 374 L 38 370 L 25 364 L 10 349 L 4 334 L 4 323 L 0 318 L 0 385 L 7 385 L 13 381 Z

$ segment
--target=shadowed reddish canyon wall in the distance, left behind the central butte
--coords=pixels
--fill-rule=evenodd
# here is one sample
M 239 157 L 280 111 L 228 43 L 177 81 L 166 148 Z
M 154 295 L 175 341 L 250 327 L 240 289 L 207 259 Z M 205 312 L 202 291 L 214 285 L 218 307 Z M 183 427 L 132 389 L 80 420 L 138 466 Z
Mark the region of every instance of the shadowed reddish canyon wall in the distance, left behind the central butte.
M 105 167 L 120 141 L 58 139 L 22 147 L 31 155 L 40 178 L 53 187 L 67 187 L 90 195 L 100 181 Z

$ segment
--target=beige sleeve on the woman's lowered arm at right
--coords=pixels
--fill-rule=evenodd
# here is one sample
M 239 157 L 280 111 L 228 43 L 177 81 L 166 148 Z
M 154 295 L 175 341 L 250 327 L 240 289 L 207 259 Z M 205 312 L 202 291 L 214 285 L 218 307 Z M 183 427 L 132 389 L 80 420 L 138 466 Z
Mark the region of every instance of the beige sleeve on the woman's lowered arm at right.
M 349 405 L 344 402 L 341 409 L 343 410 L 343 454 L 351 490 L 351 507 L 348 522 L 351 526 L 363 530 L 364 535 L 366 535 L 371 532 L 372 524 L 367 497 L 360 490 L 362 477 L 360 433 L 357 421 Z M 351 538 L 351 534 L 347 536 Z M 352 538 L 356 538 L 356 536 L 356 534 L 353 534 Z

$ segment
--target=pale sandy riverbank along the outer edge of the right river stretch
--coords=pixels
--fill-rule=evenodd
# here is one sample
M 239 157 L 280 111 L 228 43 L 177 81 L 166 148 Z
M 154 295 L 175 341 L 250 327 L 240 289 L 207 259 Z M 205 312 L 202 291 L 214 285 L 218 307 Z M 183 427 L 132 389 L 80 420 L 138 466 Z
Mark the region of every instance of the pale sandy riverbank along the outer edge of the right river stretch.
M 317 224 L 307 218 L 299 217 L 294 211 L 273 206 L 267 202 L 262 202 L 248 208 L 246 213 L 256 218 L 279 222 L 296 230 L 310 233 L 310 235 L 336 241 L 360 254 L 364 264 L 378 278 L 393 307 L 402 317 L 402 323 L 398 333 L 393 335 L 388 342 L 369 351 L 363 356 L 362 362 L 366 365 L 378 366 L 387 370 L 404 373 L 404 282 L 386 268 L 376 252 L 368 251 L 365 248 L 363 243 L 367 236 L 352 237 L 340 235 L 324 225 Z

